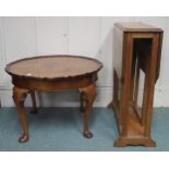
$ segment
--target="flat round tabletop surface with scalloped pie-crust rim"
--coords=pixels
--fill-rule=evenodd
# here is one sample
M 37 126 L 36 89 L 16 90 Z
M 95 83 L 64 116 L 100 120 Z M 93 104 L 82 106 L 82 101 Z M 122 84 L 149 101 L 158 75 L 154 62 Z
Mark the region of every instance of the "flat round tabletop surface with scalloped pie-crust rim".
M 80 56 L 38 56 L 9 63 L 11 75 L 35 79 L 75 77 L 97 72 L 102 64 L 96 59 Z

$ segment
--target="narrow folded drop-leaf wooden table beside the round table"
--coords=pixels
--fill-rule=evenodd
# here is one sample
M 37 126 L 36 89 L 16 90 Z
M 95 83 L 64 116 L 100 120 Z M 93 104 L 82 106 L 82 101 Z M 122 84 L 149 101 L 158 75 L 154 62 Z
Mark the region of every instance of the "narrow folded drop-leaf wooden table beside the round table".
M 116 110 L 120 133 L 114 146 L 156 146 L 150 124 L 162 31 L 143 23 L 117 23 L 113 38 L 113 98 L 109 107 Z M 142 102 L 141 74 L 145 80 Z

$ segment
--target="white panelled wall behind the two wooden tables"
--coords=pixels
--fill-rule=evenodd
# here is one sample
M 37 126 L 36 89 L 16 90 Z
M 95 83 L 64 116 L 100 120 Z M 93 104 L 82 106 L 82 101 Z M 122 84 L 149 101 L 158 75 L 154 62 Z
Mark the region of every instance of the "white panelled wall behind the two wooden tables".
M 116 22 L 144 22 L 164 29 L 160 76 L 155 107 L 169 106 L 169 17 L 146 16 L 26 16 L 0 17 L 0 97 L 2 106 L 14 106 L 7 63 L 37 55 L 81 55 L 104 63 L 97 82 L 95 106 L 106 107 L 112 97 L 112 28 Z M 39 106 L 79 106 L 76 92 L 37 94 Z M 29 106 L 29 98 L 26 100 Z

